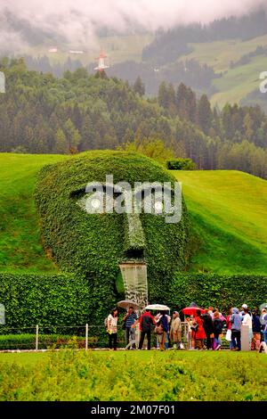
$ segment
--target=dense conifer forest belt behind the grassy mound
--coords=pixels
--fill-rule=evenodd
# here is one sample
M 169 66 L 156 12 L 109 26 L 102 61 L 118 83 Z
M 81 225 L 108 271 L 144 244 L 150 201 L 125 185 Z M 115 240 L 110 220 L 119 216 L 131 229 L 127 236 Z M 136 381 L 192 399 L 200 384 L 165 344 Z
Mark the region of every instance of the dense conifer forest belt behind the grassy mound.
M 172 157 L 190 158 L 198 168 L 267 178 L 267 117 L 259 106 L 226 104 L 219 111 L 205 94 L 197 99 L 190 87 L 164 82 L 158 97 L 148 99 L 141 78 L 130 86 L 85 69 L 55 78 L 29 71 L 22 59 L 2 59 L 0 70 L 6 77 L 0 152 L 75 153 L 163 143 Z

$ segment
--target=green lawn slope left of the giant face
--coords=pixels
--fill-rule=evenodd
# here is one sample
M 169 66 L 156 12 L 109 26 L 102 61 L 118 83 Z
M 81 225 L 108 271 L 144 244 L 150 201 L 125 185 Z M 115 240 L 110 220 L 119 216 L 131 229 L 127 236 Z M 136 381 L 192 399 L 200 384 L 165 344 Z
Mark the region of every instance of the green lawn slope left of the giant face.
M 0 269 L 53 271 L 44 255 L 33 191 L 36 173 L 63 159 L 55 155 L 0 153 Z

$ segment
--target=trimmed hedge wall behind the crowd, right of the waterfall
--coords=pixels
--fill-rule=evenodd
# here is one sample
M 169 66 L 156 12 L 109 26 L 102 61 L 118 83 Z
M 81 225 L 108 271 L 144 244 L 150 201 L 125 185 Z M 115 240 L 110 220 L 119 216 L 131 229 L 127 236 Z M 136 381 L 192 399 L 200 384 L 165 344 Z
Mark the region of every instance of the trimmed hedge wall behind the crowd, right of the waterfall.
M 158 299 L 158 296 L 161 296 Z M 150 300 L 160 300 L 171 308 L 198 306 L 220 308 L 226 314 L 231 307 L 259 307 L 267 301 L 267 275 L 176 274 L 166 290 L 153 287 Z

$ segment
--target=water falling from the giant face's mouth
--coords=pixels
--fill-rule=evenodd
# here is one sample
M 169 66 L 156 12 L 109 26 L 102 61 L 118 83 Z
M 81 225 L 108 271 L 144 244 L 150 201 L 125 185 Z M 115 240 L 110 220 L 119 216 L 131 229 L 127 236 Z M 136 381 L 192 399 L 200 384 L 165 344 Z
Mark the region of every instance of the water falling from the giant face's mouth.
M 125 287 L 125 299 L 144 308 L 148 305 L 148 275 L 145 263 L 125 262 L 119 265 Z

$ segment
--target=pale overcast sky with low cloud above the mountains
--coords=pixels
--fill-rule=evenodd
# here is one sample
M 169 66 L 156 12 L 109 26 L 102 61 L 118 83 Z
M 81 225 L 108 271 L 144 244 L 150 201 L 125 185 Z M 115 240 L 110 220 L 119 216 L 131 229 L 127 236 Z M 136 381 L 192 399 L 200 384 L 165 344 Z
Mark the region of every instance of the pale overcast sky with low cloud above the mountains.
M 93 43 L 95 29 L 101 26 L 125 31 L 131 22 L 132 27 L 170 29 L 178 23 L 242 15 L 266 4 L 267 0 L 0 0 L 0 13 L 7 10 L 34 28 L 85 46 Z M 8 29 L 8 22 L 1 25 L 0 37 L 2 42 L 20 43 L 20 34 Z

